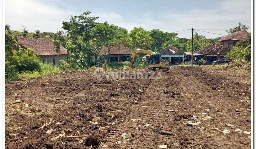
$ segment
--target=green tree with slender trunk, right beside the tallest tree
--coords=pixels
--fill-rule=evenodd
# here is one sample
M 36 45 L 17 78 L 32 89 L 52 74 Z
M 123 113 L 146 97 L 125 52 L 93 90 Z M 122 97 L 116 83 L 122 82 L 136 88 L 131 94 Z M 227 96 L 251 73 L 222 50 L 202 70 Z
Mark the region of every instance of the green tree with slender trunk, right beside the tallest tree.
M 103 45 L 108 41 L 113 39 L 114 26 L 109 25 L 107 22 L 97 23 L 95 27 L 91 29 L 91 40 L 90 43 L 93 47 L 93 52 L 95 56 L 95 65 L 97 64 L 97 56 L 101 51 Z

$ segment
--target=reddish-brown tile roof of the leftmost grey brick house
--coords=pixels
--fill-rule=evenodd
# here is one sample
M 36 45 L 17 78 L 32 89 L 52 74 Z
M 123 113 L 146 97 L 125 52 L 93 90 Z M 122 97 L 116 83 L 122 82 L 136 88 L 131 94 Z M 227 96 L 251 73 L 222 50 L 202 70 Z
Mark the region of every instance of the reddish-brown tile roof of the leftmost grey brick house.
M 18 44 L 23 46 L 24 48 L 34 49 L 35 53 L 38 55 L 60 55 L 60 54 L 68 54 L 67 50 L 60 46 L 60 53 L 54 52 L 53 41 L 50 39 L 44 38 L 32 38 L 32 37 L 18 37 Z

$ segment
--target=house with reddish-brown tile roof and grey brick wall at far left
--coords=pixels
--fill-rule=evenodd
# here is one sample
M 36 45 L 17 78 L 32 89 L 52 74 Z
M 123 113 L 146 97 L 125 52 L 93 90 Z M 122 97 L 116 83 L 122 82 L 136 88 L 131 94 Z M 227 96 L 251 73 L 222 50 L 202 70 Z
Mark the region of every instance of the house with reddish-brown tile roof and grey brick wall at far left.
M 59 65 L 60 60 L 67 61 L 68 59 L 67 50 L 63 46 L 60 46 L 60 53 L 55 52 L 53 41 L 50 39 L 22 36 L 17 36 L 17 38 L 20 48 L 33 49 L 35 54 L 39 55 L 42 62 Z

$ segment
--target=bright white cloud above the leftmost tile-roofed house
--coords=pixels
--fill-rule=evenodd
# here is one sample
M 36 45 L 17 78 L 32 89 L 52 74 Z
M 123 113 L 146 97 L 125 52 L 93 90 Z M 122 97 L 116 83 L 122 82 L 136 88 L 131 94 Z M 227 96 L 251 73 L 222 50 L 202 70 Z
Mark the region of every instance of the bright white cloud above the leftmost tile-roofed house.
M 27 26 L 29 32 L 56 32 L 62 27 L 62 21 L 75 15 L 70 10 L 46 5 L 40 0 L 6 0 L 5 24 L 19 30 L 21 24 Z

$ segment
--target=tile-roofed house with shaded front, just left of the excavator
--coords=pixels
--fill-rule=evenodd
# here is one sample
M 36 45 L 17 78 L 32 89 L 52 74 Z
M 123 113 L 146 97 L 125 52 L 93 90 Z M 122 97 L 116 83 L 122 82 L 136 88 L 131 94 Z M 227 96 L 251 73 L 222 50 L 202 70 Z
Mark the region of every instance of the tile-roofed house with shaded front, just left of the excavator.
M 122 61 L 129 61 L 128 57 L 132 54 L 132 50 L 130 50 L 127 46 L 104 46 L 100 50 L 100 54 L 105 57 L 106 61 L 109 62 L 122 62 Z

